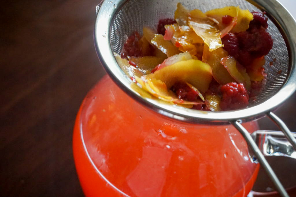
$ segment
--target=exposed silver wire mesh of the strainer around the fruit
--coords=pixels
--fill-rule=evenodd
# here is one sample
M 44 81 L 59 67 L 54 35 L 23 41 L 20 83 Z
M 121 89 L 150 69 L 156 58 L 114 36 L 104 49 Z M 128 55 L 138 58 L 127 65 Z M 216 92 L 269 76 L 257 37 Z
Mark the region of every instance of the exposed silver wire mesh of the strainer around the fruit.
M 157 1 L 157 0 L 129 0 L 114 17 L 111 25 L 110 43 L 112 51 L 120 54 L 127 36 L 133 31 L 143 34 L 143 27 L 157 27 L 158 20 L 163 18 L 173 18 L 176 5 L 181 2 L 188 9 L 207 10 L 221 8 L 224 6 L 239 6 L 241 9 L 260 11 L 254 5 L 245 0 L 192 0 L 192 1 Z M 272 50 L 265 56 L 266 82 L 262 92 L 257 96 L 250 106 L 258 105 L 272 97 L 282 87 L 287 79 L 289 68 L 289 55 L 284 39 L 271 20 L 268 20 L 268 29 L 274 45 Z

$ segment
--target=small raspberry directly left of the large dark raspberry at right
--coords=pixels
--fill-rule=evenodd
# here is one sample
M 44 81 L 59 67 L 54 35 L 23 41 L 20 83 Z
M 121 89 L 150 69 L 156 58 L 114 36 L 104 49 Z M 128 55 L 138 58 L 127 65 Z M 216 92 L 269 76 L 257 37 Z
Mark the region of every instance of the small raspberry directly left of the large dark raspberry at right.
M 239 41 L 237 36 L 233 33 L 228 33 L 222 38 L 222 43 L 224 49 L 229 53 L 229 55 L 237 58 L 239 56 Z

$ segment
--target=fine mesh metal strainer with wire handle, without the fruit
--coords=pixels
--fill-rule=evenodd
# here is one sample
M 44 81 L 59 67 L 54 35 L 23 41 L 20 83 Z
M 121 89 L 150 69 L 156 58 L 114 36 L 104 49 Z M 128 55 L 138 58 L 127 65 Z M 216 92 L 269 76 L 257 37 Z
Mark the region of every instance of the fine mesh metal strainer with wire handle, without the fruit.
M 114 53 L 120 54 L 126 36 L 133 31 L 143 33 L 143 27 L 155 27 L 159 19 L 173 18 L 181 2 L 190 9 L 203 12 L 224 6 L 239 6 L 250 11 L 265 11 L 268 29 L 274 45 L 266 58 L 266 82 L 255 102 L 248 108 L 223 112 L 208 112 L 165 105 L 141 97 L 131 88 L 129 79 L 118 66 Z M 261 166 L 266 170 L 282 196 L 288 196 L 248 131 L 241 123 L 268 115 L 284 132 L 296 150 L 296 140 L 287 126 L 271 110 L 277 108 L 296 89 L 296 22 L 276 0 L 105 0 L 97 6 L 95 45 L 99 59 L 113 81 L 128 95 L 156 112 L 191 123 L 233 124 L 244 136 Z M 270 62 L 273 65 L 270 66 Z

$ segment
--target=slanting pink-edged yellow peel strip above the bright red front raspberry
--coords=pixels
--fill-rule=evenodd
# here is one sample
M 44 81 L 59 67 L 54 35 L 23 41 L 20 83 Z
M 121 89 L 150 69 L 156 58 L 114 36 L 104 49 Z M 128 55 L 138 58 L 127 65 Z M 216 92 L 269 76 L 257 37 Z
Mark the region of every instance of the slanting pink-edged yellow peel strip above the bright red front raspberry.
M 246 69 L 237 63 L 232 56 L 227 56 L 221 59 L 221 64 L 227 69 L 229 74 L 238 82 L 243 83 L 248 90 L 251 88 L 251 80 L 246 72 Z

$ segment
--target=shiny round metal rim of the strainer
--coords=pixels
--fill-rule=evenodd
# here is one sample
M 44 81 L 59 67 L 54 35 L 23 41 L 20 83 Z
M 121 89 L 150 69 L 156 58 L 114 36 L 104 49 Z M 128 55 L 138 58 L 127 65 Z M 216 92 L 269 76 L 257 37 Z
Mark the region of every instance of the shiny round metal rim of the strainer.
M 96 17 L 94 40 L 95 47 L 104 69 L 112 80 L 129 96 L 148 108 L 180 121 L 191 123 L 229 124 L 230 121 L 251 121 L 264 116 L 269 111 L 282 104 L 296 90 L 296 21 L 292 15 L 277 0 L 248 0 L 259 9 L 266 11 L 268 17 L 279 27 L 286 41 L 289 52 L 289 75 L 283 87 L 265 102 L 241 110 L 208 112 L 186 109 L 175 105 L 165 105 L 141 97 L 131 88 L 131 80 L 125 76 L 118 66 L 110 44 L 110 26 L 120 8 L 128 0 L 103 1 Z

